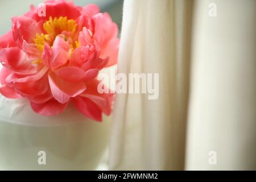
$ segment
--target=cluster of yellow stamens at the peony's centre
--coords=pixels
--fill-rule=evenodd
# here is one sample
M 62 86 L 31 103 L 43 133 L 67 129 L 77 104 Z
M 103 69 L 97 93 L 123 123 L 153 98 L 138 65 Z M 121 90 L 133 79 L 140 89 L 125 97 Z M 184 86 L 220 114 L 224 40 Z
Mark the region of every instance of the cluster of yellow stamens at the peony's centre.
M 44 44 L 52 46 L 56 36 L 61 36 L 66 42 L 68 42 L 71 48 L 77 46 L 77 41 L 74 40 L 74 35 L 77 28 L 77 23 L 73 19 L 68 19 L 67 17 L 60 16 L 59 18 L 52 17 L 49 18 L 43 24 L 43 28 L 46 31 L 46 34 L 36 34 L 34 42 L 36 47 L 43 51 Z

